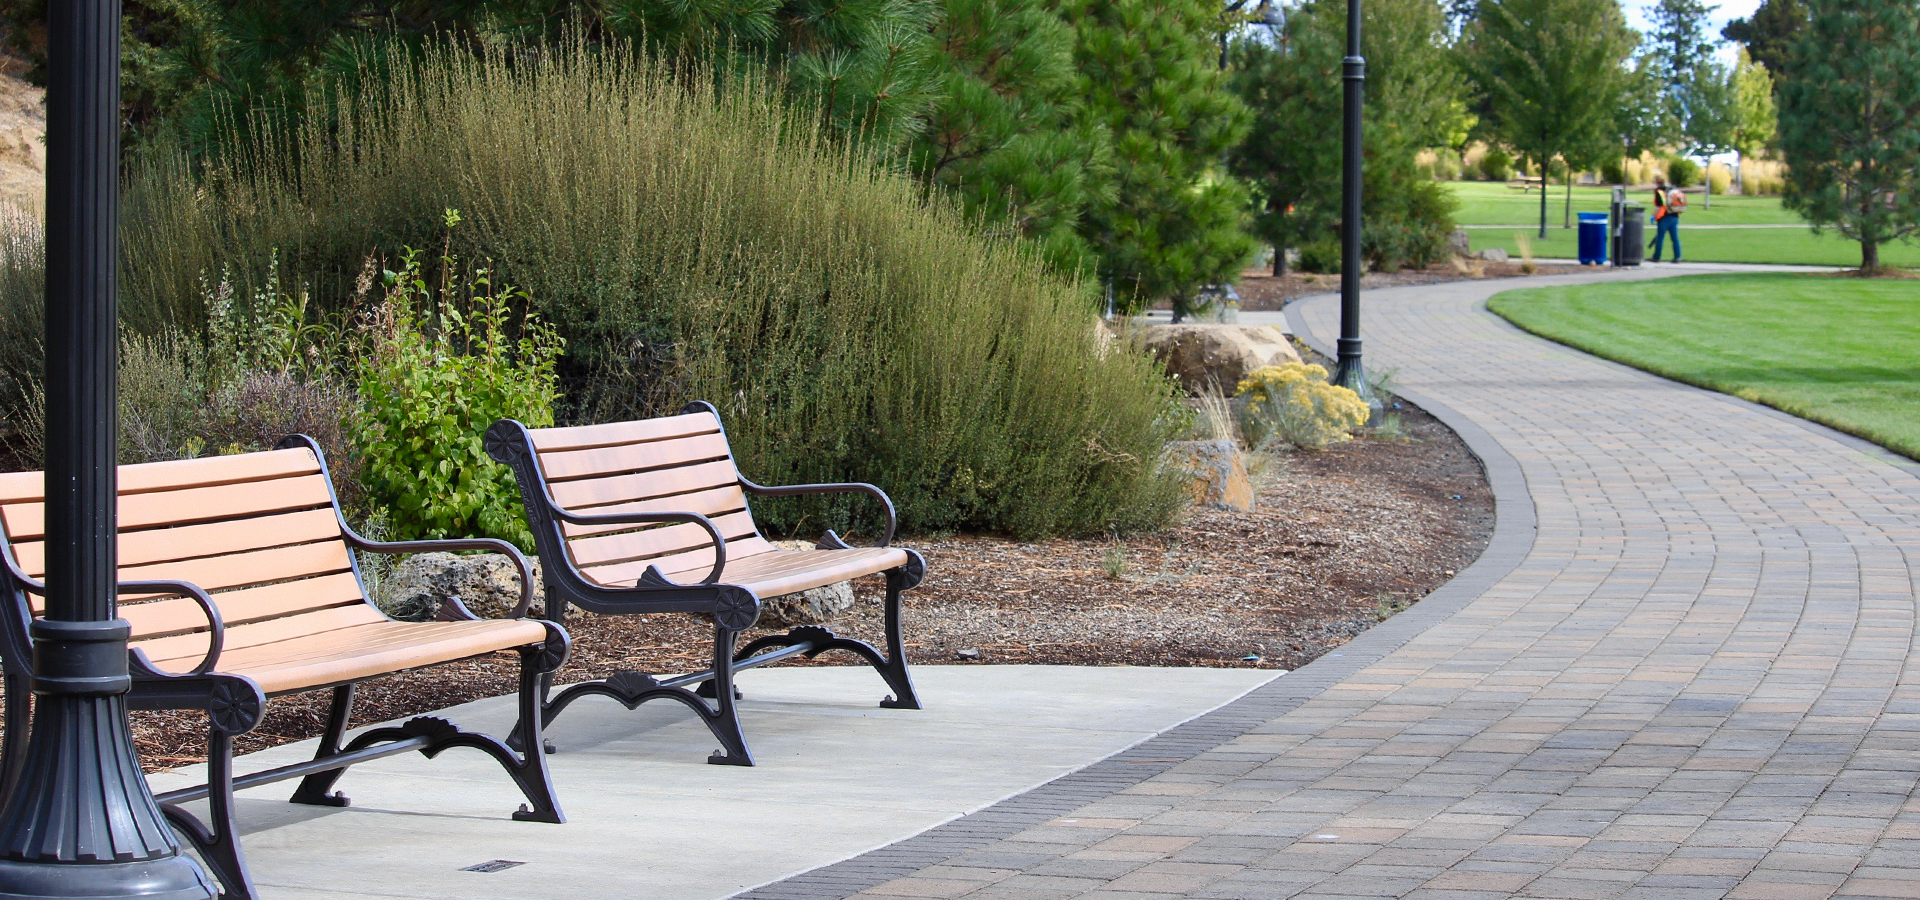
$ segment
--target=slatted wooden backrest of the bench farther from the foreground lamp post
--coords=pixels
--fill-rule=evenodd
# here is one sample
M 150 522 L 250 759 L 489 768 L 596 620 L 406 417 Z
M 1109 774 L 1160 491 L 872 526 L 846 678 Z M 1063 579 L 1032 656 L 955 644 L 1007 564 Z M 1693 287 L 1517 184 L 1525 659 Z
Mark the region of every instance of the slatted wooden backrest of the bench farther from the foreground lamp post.
M 586 514 L 699 512 L 726 537 L 728 560 L 774 547 L 753 524 L 720 416 L 710 411 L 641 422 L 532 428 L 547 497 Z M 601 585 L 712 566 L 712 537 L 697 524 L 561 524 L 574 568 Z

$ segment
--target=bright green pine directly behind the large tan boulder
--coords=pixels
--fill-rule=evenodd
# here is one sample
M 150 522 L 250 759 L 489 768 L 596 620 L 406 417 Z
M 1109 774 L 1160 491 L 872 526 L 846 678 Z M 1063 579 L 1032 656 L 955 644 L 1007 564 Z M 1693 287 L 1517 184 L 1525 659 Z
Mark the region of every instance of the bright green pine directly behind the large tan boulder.
M 1200 286 L 1236 278 L 1254 249 L 1246 188 L 1223 171 L 1248 113 L 1219 69 L 1219 12 L 1204 0 L 1066 0 L 1062 15 L 1077 31 L 1085 121 L 1114 136 L 1110 190 L 1081 234 L 1123 309 L 1169 299 L 1187 315 Z

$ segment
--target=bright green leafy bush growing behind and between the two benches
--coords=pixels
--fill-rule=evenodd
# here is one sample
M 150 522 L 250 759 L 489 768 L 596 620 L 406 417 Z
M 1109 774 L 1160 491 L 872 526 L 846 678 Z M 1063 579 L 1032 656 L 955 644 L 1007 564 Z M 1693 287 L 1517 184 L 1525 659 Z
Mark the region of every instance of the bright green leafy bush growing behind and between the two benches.
M 455 223 L 449 211 L 447 226 Z M 386 297 L 363 322 L 357 365 L 361 478 L 399 539 L 484 535 L 532 551 L 513 472 L 486 455 L 480 436 L 499 418 L 553 424 L 553 363 L 564 343 L 530 311 L 511 315 L 524 292 L 495 288 L 486 269 L 470 280 L 453 269 L 444 257 L 440 288 L 430 288 L 409 249 L 399 272 L 382 272 Z

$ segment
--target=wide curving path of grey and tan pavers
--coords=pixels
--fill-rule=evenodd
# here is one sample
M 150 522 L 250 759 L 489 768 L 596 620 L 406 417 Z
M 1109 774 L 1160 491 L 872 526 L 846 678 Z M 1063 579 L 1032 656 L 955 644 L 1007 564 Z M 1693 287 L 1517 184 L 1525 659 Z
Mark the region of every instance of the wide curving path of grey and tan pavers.
M 1920 478 L 1523 336 L 1494 290 L 1369 294 L 1365 322 L 1505 482 L 1471 597 L 1206 746 L 756 896 L 1920 898 Z

